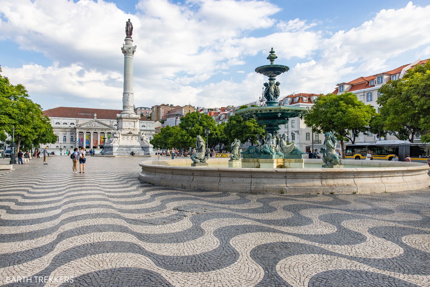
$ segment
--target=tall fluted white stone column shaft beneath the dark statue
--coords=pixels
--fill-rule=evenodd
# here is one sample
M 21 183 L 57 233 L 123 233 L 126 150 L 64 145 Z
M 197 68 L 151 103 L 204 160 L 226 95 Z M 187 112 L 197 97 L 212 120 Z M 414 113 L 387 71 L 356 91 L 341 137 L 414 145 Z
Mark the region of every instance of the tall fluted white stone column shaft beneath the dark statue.
M 127 37 L 125 42 L 121 48 L 124 54 L 124 92 L 123 111 L 121 114 L 135 114 L 133 105 L 133 55 L 137 46 L 132 46 L 133 40 L 131 38 Z

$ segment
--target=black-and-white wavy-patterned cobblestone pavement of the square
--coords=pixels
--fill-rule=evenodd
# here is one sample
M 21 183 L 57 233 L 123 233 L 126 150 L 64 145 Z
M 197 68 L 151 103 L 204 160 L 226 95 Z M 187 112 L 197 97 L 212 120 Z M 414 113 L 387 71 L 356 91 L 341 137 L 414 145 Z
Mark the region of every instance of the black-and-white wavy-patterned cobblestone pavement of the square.
M 143 159 L 0 171 L 0 285 L 430 286 L 430 188 L 187 191 L 139 182 Z

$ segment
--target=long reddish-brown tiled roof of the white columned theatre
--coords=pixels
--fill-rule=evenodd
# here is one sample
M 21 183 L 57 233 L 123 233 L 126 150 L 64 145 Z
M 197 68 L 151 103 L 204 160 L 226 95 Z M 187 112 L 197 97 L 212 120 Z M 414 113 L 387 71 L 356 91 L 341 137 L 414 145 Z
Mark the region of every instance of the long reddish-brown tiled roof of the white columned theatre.
M 73 108 L 73 107 L 58 107 L 43 111 L 43 115 L 48 117 L 70 117 L 92 119 L 94 114 L 101 120 L 116 120 L 117 114 L 122 110 L 108 110 L 103 108 Z M 146 117 L 140 117 L 140 120 L 150 121 Z

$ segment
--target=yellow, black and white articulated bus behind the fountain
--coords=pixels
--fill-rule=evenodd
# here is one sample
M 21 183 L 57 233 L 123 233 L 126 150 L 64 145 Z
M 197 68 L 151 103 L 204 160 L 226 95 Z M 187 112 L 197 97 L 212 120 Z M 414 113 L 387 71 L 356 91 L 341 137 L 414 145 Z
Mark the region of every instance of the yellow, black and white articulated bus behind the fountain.
M 398 140 L 347 145 L 345 148 L 345 158 L 365 159 L 368 150 L 372 152 L 374 160 L 391 160 L 394 154 L 396 154 L 400 161 L 404 161 L 406 155 L 409 154 L 412 161 L 427 164 L 427 159 L 430 157 L 430 144 L 410 143 Z

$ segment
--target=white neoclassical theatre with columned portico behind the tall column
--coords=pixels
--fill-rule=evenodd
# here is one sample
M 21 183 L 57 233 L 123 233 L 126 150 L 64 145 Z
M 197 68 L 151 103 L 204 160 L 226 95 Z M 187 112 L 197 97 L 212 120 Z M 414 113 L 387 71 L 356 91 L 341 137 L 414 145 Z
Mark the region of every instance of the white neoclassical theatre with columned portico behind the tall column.
M 49 149 L 103 148 L 103 143 L 117 130 L 117 114 L 122 110 L 99 108 L 58 107 L 43 111 L 51 120 L 57 142 L 47 144 Z M 140 119 L 140 130 L 149 139 L 154 137 L 154 121 Z

